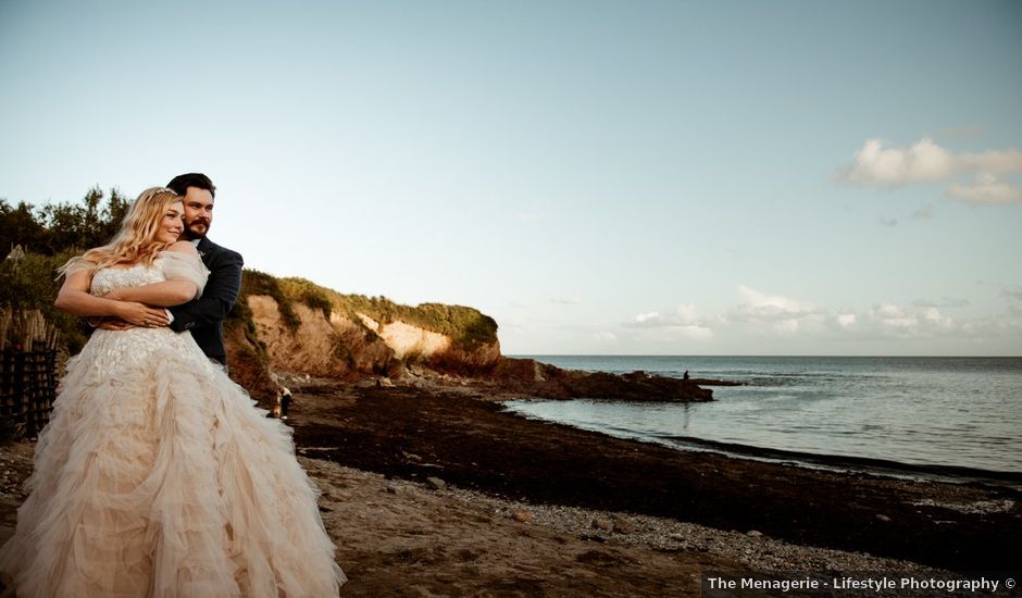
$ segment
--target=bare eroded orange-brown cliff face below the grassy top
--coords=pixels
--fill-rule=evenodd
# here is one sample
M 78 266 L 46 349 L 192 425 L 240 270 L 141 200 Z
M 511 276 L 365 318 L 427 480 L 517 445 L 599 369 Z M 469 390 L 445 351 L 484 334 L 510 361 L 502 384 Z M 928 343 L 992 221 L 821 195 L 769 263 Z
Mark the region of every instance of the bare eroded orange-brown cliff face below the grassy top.
M 444 334 L 396 321 L 381 323 L 366 314 L 352 320 L 339 313 L 327 317 L 303 304 L 294 304 L 297 328 L 289 327 L 277 301 L 266 295 L 249 295 L 256 336 L 265 348 L 274 371 L 359 379 L 400 376 L 416 364 L 440 372 L 476 375 L 500 360 L 498 342 L 466 350 Z M 245 351 L 244 339 L 233 338 L 229 349 Z

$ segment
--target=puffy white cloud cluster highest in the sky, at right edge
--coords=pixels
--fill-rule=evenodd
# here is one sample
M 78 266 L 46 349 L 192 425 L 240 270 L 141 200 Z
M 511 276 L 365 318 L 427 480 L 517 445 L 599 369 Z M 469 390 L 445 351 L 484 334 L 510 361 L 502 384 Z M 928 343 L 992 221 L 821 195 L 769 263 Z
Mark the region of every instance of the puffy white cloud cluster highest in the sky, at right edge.
M 1022 189 L 998 178 L 1012 173 L 1022 173 L 1022 151 L 1015 148 L 955 154 L 930 138 L 907 148 L 889 147 L 883 139 L 874 138 L 867 139 L 853 162 L 834 178 L 859 186 L 900 187 L 945 183 L 961 174 L 972 174 L 975 177 L 972 184 L 950 185 L 945 191 L 947 196 L 973 203 L 1013 203 L 1022 201 Z

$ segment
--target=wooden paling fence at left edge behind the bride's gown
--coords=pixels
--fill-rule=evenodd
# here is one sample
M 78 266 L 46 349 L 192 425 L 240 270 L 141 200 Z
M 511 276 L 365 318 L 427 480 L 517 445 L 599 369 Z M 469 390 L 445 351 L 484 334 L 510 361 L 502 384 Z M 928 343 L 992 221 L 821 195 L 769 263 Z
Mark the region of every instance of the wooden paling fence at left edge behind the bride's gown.
M 35 438 L 50 421 L 59 342 L 38 310 L 0 310 L 0 424 L 8 434 Z

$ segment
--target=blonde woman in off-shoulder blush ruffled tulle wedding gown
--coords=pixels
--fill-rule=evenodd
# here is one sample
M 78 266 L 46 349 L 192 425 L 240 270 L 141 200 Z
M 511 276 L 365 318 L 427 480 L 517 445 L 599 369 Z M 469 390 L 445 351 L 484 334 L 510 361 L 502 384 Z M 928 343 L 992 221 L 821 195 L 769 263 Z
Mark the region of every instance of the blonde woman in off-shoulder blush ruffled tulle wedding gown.
M 134 326 L 97 329 L 67 363 L 0 548 L 20 598 L 320 598 L 345 583 L 288 428 L 164 326 L 208 275 L 177 241 L 183 213 L 147 189 L 110 245 L 63 269 L 58 308 Z

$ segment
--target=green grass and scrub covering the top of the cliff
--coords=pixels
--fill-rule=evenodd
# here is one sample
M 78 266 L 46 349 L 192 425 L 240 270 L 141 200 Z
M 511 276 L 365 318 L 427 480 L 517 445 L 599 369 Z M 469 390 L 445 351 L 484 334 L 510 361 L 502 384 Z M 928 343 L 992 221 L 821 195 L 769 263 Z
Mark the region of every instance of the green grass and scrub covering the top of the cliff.
M 248 295 L 273 297 L 279 307 L 281 317 L 291 331 L 298 329 L 301 324 L 301 320 L 295 312 L 295 303 L 298 302 L 304 303 L 312 310 L 321 311 L 326 317 L 334 312 L 345 315 L 360 326 L 364 324 L 358 316 L 359 313 L 384 325 L 397 321 L 404 322 L 446 335 L 451 338 L 456 347 L 465 350 L 497 341 L 497 322 L 476 309 L 462 306 L 443 303 L 401 306 L 386 297 L 342 295 L 304 278 L 276 278 L 256 270 L 246 270 L 242 277 L 241 299 Z M 250 314 L 249 317 L 251 317 Z

